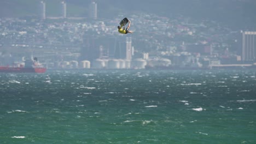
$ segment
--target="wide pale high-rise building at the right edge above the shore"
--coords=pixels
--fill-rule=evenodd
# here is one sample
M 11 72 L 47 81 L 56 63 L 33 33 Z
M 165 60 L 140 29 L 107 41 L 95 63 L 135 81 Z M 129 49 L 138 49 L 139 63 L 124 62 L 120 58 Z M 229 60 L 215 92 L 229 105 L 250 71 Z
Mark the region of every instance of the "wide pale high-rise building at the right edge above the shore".
M 256 60 L 256 32 L 242 32 L 242 61 Z

